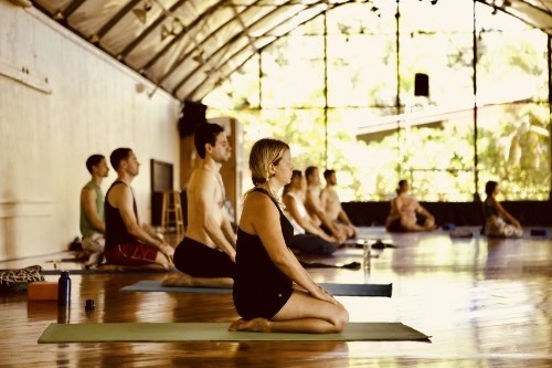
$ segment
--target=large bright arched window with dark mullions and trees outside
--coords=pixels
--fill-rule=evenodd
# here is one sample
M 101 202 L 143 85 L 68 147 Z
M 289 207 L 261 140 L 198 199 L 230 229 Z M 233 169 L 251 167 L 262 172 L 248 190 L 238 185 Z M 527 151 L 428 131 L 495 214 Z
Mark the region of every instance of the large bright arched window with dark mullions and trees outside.
M 330 9 L 203 103 L 242 122 L 246 153 L 272 136 L 290 144 L 297 168 L 336 169 L 347 201 L 388 200 L 403 178 L 427 201 L 470 201 L 487 180 L 508 200 L 548 199 L 546 35 L 475 10 L 474 32 L 468 1 Z M 415 94 L 416 74 L 427 96 Z

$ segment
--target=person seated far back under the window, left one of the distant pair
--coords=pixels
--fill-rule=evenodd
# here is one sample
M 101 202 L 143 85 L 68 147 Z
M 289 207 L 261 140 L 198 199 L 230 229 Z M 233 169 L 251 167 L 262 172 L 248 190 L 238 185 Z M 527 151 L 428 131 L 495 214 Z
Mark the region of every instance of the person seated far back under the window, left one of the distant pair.
M 408 181 L 399 181 L 385 228 L 390 232 L 435 230 L 435 218 L 416 199 L 408 196 Z

